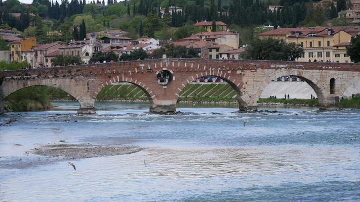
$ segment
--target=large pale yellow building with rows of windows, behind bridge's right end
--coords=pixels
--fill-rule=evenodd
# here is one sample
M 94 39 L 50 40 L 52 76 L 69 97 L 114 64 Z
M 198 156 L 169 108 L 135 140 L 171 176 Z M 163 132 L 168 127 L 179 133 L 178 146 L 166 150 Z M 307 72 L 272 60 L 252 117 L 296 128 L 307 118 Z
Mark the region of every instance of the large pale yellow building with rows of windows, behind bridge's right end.
M 304 54 L 300 62 L 350 62 L 344 44 L 351 40 L 352 35 L 344 29 L 326 28 L 320 32 L 295 32 L 286 38 L 303 47 Z M 338 45 L 340 44 L 340 45 Z M 340 60 L 339 54 L 343 57 Z

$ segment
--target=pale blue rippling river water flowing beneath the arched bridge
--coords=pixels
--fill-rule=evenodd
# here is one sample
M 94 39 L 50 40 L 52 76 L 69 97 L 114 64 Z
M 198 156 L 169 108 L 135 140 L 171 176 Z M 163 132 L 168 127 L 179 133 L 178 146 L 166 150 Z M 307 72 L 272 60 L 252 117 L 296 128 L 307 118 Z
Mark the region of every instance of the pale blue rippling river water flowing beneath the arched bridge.
M 0 117 L 17 117 L 0 126 L 0 201 L 360 201 L 360 110 L 155 115 L 147 104 L 97 103 L 96 116 L 76 117 L 77 104 L 54 105 Z M 76 171 L 25 154 L 60 139 L 144 149 L 73 160 Z

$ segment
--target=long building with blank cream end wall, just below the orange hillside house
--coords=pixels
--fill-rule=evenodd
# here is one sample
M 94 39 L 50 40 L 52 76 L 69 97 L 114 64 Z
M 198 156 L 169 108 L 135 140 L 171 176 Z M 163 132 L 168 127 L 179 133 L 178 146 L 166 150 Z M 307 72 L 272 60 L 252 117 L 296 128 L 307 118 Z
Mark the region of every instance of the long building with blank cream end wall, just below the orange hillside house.
M 234 49 L 237 49 L 239 46 L 239 34 L 237 32 L 200 32 L 197 34 L 193 34 L 192 36 L 198 37 L 200 40 L 229 45 Z

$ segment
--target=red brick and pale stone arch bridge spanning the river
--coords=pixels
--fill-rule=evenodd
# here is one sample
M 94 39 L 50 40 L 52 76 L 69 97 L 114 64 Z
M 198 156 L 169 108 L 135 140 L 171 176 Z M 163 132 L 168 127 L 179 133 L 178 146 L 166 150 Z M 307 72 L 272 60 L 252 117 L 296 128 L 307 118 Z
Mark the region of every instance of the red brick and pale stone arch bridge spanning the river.
M 170 72 L 167 85 L 157 82 L 159 72 Z M 3 99 L 30 86 L 52 86 L 71 94 L 80 104 L 78 113 L 95 113 L 100 90 L 112 83 L 129 82 L 148 96 L 150 112 L 174 113 L 178 96 L 187 83 L 202 76 L 216 76 L 237 92 L 240 110 L 257 108 L 262 90 L 282 76 L 306 81 L 316 92 L 322 108 L 339 105 L 339 97 L 360 79 L 359 64 L 307 63 L 255 60 L 156 59 L 129 62 L 76 65 L 0 73 L 0 110 Z

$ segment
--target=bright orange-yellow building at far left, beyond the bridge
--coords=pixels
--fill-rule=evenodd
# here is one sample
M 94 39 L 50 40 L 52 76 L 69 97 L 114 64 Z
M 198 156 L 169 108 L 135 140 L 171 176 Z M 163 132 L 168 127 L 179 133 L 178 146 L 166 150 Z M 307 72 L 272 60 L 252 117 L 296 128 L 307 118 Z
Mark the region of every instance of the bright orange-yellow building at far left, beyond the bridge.
M 21 52 L 27 51 L 28 49 L 36 46 L 36 38 L 25 38 L 21 41 L 15 41 L 11 43 L 10 46 L 10 61 L 11 62 L 21 62 Z

